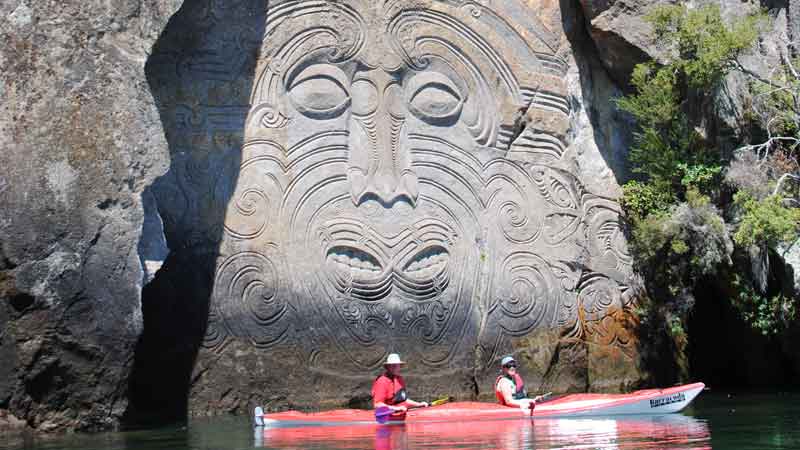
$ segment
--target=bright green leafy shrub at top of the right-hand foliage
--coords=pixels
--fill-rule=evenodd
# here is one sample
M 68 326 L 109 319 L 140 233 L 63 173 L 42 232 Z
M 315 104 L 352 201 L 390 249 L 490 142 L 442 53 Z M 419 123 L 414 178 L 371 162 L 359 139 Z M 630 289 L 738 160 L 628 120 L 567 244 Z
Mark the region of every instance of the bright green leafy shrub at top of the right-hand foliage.
M 683 103 L 691 89 L 702 95 L 735 67 L 736 57 L 758 37 L 764 16 L 747 16 L 727 25 L 714 5 L 696 9 L 665 5 L 656 7 L 647 19 L 675 52 L 665 65 L 637 65 L 631 77 L 634 93 L 617 99 L 618 107 L 633 115 L 639 128 L 629 153 L 632 170 L 657 184 L 658 191 L 671 192 L 675 201 L 688 188 L 710 193 L 719 186 L 719 152 L 708 148 Z

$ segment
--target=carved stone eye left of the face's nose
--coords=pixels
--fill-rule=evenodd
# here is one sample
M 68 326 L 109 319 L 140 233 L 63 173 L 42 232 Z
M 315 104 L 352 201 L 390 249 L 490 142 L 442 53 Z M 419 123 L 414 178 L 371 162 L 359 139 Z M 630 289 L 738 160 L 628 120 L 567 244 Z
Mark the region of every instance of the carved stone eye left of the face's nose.
M 290 83 L 289 98 L 298 111 L 312 119 L 333 119 L 350 105 L 346 80 L 344 72 L 334 66 L 310 66 Z

